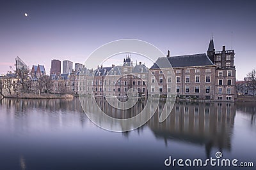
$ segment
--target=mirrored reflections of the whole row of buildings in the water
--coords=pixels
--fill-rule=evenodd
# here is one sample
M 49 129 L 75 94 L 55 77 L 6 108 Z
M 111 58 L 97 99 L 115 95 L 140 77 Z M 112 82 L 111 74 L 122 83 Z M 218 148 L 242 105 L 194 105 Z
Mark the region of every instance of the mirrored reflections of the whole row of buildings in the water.
M 234 103 L 186 103 L 176 102 L 172 107 L 172 101 L 160 101 L 158 103 L 154 100 L 138 101 L 135 106 L 129 110 L 118 110 L 110 106 L 106 100 L 98 98 L 96 100 L 97 107 L 90 97 L 84 97 L 79 101 L 78 98 L 72 100 L 65 99 L 4 99 L 1 104 L 6 106 L 7 110 L 15 109 L 15 117 L 26 116 L 26 110 L 34 108 L 36 110 L 44 111 L 45 114 L 59 114 L 78 112 L 80 113 L 81 124 L 83 125 L 86 116 L 84 115 L 81 104 L 85 106 L 86 111 L 96 113 L 102 110 L 110 117 L 115 118 L 131 118 L 145 108 L 147 115 L 138 117 L 133 126 L 138 122 L 149 119 L 152 111 L 155 114 L 147 124 L 143 125 L 136 131 L 140 133 L 144 127 L 149 127 L 156 138 L 163 139 L 167 145 L 168 140 L 182 141 L 193 143 L 194 145 L 205 146 L 205 153 L 207 157 L 211 155 L 212 148 L 218 150 L 231 150 L 231 138 L 234 127 L 234 117 L 236 108 Z M 81 104 L 80 104 L 81 103 Z M 166 110 L 170 115 L 164 122 L 159 123 L 159 117 L 164 109 L 166 103 Z M 239 105 L 238 105 L 239 107 Z M 244 108 L 241 107 L 241 108 Z M 250 108 L 252 109 L 252 108 Z M 255 108 L 253 118 L 255 119 Z M 95 117 L 95 121 L 99 124 L 109 124 L 102 117 Z M 255 122 L 255 121 L 254 121 Z M 109 126 L 120 126 L 126 128 L 127 124 L 116 124 L 115 121 L 110 122 Z M 124 132 L 124 136 L 129 138 L 129 132 Z

